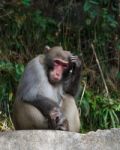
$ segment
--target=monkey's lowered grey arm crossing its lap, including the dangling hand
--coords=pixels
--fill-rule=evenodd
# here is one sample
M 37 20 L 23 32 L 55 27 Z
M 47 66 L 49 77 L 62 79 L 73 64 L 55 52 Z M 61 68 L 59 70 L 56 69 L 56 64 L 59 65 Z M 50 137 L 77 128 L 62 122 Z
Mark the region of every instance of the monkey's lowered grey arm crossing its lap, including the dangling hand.
M 23 100 L 25 103 L 36 107 L 47 119 L 51 129 L 69 130 L 67 119 L 64 117 L 59 105 L 53 100 L 37 95 L 33 101 Z

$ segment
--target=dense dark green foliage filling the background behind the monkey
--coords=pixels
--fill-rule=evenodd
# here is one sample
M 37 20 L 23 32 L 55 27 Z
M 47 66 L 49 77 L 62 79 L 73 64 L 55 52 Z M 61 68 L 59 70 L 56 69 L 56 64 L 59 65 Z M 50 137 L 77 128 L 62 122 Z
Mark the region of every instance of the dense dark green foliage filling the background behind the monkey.
M 81 131 L 120 127 L 120 2 L 42 1 L 48 13 L 40 2 L 0 2 L 0 129 L 11 128 L 6 118 L 24 66 L 45 45 L 81 56 Z

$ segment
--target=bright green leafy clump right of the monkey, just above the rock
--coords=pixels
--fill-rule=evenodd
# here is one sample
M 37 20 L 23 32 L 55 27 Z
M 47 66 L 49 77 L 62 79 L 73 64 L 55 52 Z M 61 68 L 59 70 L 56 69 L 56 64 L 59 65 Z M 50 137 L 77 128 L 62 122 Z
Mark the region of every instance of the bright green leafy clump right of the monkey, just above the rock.
M 81 102 L 81 130 L 120 127 L 120 102 L 86 91 Z

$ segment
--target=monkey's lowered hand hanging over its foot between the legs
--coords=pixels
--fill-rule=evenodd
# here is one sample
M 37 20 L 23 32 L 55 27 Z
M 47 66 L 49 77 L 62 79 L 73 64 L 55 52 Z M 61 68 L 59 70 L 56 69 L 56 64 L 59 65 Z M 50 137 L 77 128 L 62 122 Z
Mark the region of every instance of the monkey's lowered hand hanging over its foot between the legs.
M 50 128 L 56 129 L 56 130 L 63 130 L 68 131 L 69 125 L 67 119 L 63 116 L 62 112 L 60 111 L 60 108 L 54 107 L 50 111 Z

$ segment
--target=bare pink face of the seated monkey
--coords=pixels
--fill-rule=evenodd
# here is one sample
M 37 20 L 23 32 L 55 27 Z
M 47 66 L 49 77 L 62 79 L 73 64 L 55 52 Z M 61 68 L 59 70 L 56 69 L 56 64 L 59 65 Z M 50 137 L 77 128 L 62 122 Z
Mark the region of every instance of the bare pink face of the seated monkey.
M 54 67 L 50 72 L 50 80 L 54 83 L 59 82 L 63 77 L 63 72 L 68 68 L 68 62 L 62 59 L 54 59 Z

